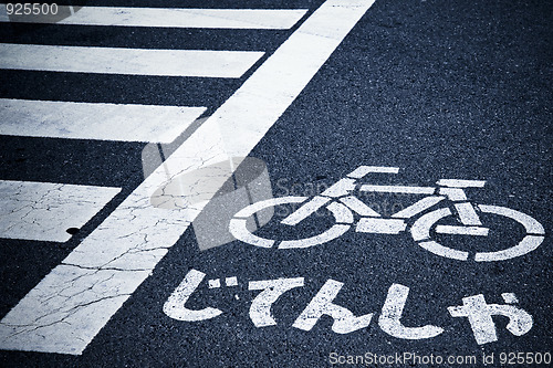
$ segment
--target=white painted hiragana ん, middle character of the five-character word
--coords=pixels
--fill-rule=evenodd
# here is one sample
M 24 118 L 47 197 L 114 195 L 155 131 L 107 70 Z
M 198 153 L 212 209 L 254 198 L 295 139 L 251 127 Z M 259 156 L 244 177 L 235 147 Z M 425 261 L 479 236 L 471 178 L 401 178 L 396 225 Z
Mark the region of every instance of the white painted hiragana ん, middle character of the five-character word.
M 311 330 L 323 315 L 334 319 L 332 330 L 336 334 L 349 334 L 367 327 L 373 318 L 372 313 L 356 317 L 349 309 L 332 303 L 343 285 L 341 282 L 328 280 L 295 319 L 292 327 Z

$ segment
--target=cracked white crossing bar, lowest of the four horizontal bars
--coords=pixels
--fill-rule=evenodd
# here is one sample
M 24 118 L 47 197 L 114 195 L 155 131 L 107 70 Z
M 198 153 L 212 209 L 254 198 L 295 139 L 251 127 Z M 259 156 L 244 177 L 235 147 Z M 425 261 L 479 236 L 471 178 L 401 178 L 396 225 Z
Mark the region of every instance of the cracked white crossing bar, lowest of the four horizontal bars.
M 0 238 L 64 242 L 119 188 L 52 182 L 0 181 Z

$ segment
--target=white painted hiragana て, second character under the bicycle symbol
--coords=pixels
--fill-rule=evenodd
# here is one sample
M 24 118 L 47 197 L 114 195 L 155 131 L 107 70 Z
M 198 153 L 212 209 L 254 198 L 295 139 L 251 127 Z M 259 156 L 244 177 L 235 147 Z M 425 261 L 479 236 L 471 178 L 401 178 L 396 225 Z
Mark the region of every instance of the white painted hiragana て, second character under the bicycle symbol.
M 262 290 L 251 302 L 250 318 L 255 327 L 276 325 L 271 313 L 271 306 L 276 299 L 294 287 L 303 286 L 303 277 L 279 278 L 268 281 L 251 281 L 248 290 Z

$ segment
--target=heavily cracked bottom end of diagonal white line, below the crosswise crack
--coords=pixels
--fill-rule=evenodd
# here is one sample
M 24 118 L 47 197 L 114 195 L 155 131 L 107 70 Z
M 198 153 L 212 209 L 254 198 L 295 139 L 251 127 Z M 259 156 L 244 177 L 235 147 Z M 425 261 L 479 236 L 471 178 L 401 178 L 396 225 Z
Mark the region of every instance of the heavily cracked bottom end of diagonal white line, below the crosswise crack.
M 94 311 L 117 309 L 149 274 L 59 265 L 2 318 L 0 348 L 43 351 L 48 344 L 51 351 L 80 354 L 83 332 L 100 330 L 111 317 Z M 49 338 L 51 330 L 63 338 Z

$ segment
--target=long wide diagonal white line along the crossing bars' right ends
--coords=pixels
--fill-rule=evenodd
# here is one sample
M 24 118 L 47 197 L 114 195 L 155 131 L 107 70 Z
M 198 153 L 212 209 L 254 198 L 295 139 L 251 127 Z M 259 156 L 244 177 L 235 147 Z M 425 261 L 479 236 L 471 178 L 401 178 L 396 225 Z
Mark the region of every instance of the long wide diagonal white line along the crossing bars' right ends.
M 194 206 L 173 210 L 150 206 L 150 193 L 167 185 L 166 170 L 173 175 L 191 172 L 229 157 L 247 156 L 373 2 L 324 2 L 165 161 L 164 167 L 154 171 L 62 265 L 46 275 L 8 313 L 0 322 L 0 348 L 82 354 L 207 203 L 195 202 Z M 198 188 L 188 189 L 194 199 Z M 201 194 L 206 196 L 205 192 Z M 93 271 L 81 277 L 79 284 L 72 283 L 74 276 L 70 274 L 58 276 L 61 270 L 71 269 L 76 272 L 83 267 L 91 267 Z M 117 294 L 118 290 L 123 290 L 123 297 L 111 298 L 113 303 L 106 304 L 101 303 L 104 301 L 103 294 L 95 293 L 87 303 L 83 303 L 85 301 L 79 290 L 87 291 L 96 285 L 100 281 L 95 275 L 98 269 L 112 270 L 114 277 L 111 280 L 109 293 Z M 133 276 L 127 281 L 124 275 L 129 273 Z M 117 286 L 117 283 L 121 285 Z M 56 295 L 67 285 L 71 285 L 72 291 L 63 299 L 63 308 L 49 301 L 51 295 Z M 79 308 L 80 313 L 73 313 L 74 308 Z M 49 316 L 48 324 L 39 318 L 43 315 Z M 83 326 L 88 320 L 90 325 Z

